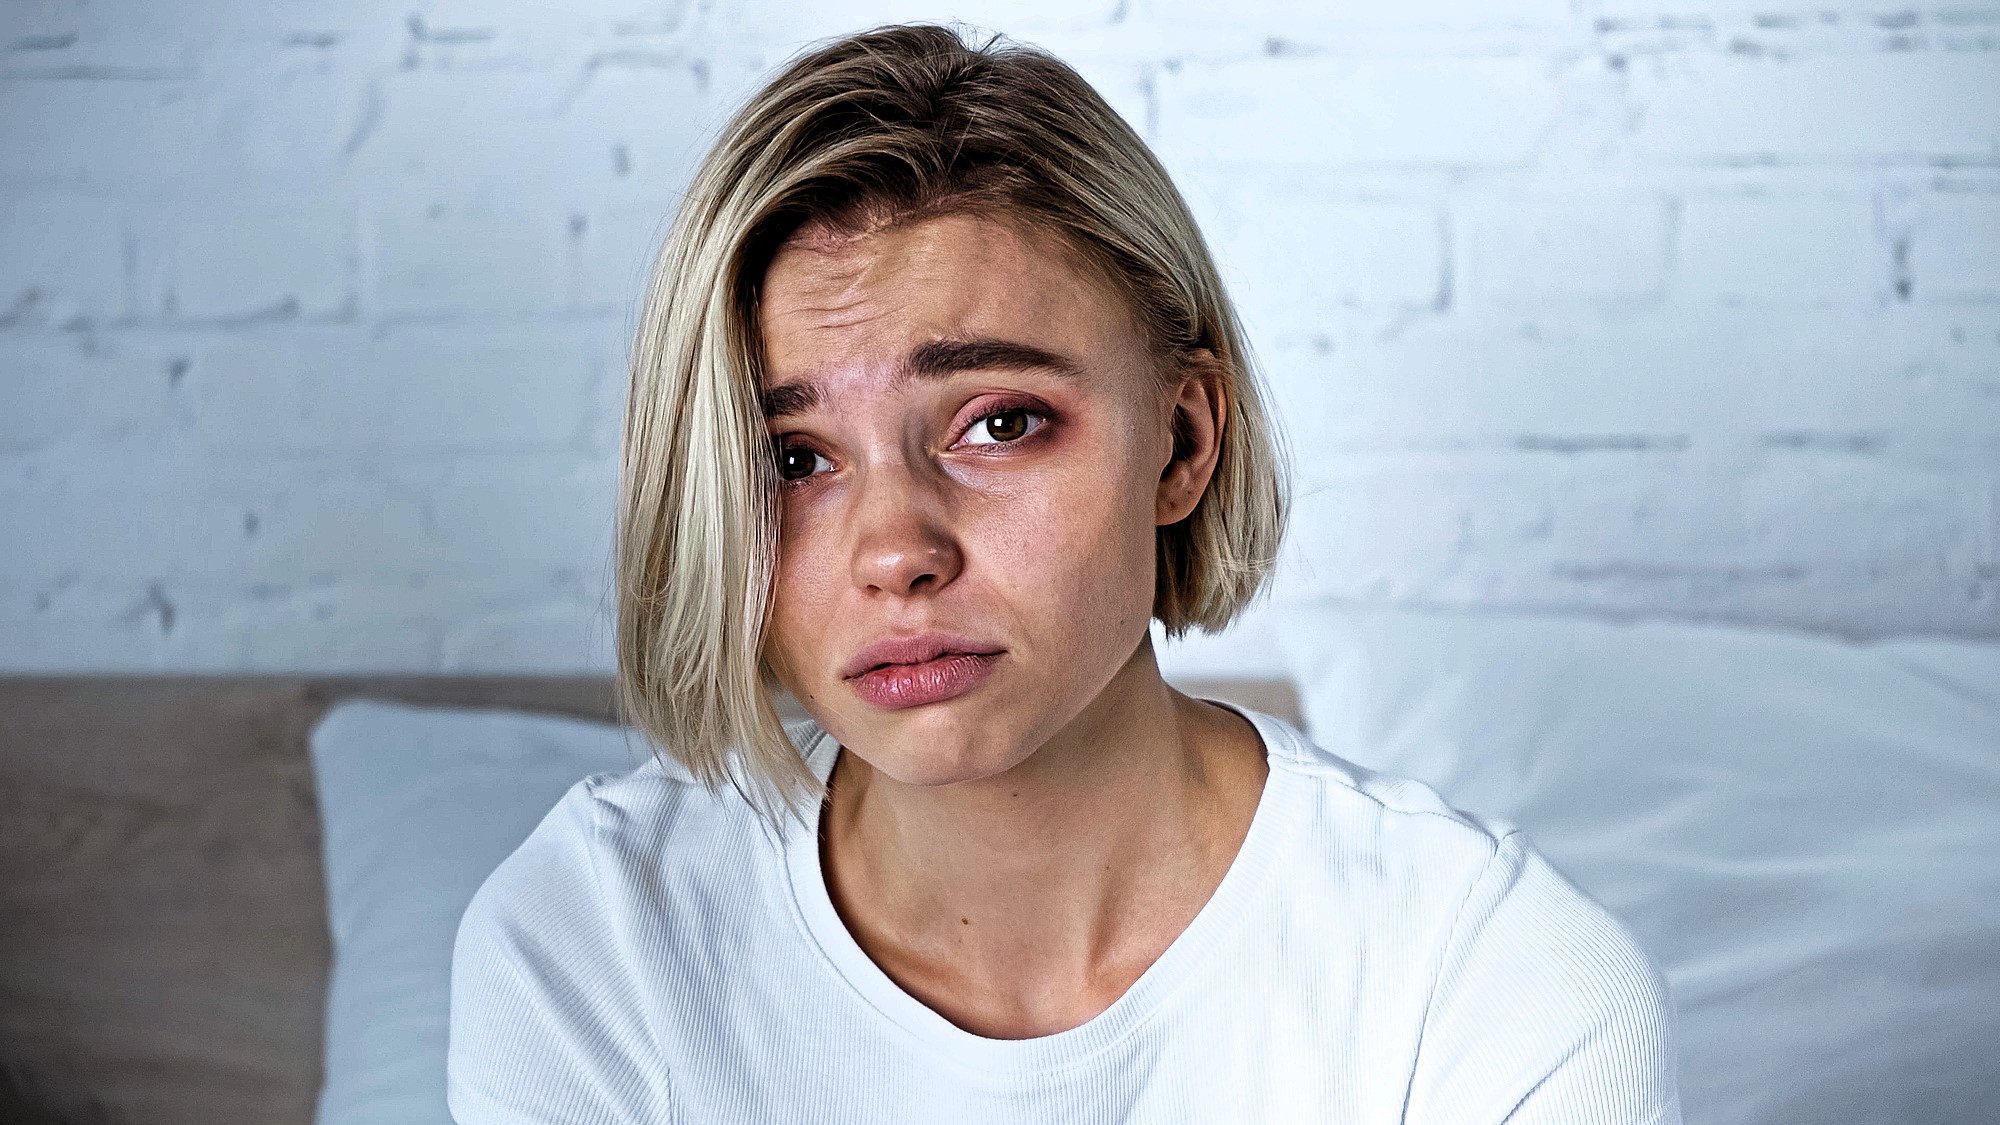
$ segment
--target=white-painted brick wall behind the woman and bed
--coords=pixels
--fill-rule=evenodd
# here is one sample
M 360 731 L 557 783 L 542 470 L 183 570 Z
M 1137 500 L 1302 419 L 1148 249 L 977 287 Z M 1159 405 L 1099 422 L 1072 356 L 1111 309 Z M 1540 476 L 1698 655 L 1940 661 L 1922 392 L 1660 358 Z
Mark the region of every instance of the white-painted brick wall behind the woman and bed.
M 14 0 L 0 669 L 606 669 L 688 168 L 804 40 L 952 16 L 1210 234 L 1274 605 L 2000 637 L 2000 0 Z M 1274 671 L 1270 613 L 1170 667 Z

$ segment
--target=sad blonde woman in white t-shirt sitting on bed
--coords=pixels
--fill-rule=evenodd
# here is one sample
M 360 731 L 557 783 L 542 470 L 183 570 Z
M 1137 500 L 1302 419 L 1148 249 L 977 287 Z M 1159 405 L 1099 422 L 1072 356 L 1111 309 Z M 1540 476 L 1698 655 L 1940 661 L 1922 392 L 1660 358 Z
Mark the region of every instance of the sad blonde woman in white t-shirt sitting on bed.
M 1088 84 L 934 26 L 796 60 L 634 350 L 664 755 L 468 909 L 452 1113 L 1678 1123 L 1658 973 L 1520 833 L 1160 679 L 1148 623 L 1228 625 L 1282 516 L 1214 264 Z

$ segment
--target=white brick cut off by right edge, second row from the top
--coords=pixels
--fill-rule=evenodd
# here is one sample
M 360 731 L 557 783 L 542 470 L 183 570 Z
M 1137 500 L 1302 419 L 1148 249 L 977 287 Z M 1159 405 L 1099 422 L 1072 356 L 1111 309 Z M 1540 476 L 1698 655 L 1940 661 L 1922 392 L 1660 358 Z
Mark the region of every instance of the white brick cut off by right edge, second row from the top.
M 1666 54 L 1632 62 L 1648 160 L 1920 160 L 2000 154 L 2000 54 Z M 1746 108 L 1752 108 L 1746 112 Z

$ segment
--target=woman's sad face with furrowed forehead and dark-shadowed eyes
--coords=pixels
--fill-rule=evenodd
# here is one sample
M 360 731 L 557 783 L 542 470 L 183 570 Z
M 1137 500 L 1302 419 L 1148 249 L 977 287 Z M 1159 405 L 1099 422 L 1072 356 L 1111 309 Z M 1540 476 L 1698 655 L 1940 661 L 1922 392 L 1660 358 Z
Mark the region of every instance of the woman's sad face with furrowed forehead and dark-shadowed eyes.
M 800 232 L 758 330 L 772 671 L 896 781 L 1012 769 L 1146 639 L 1154 528 L 1192 508 L 1124 298 L 1050 234 L 942 216 Z

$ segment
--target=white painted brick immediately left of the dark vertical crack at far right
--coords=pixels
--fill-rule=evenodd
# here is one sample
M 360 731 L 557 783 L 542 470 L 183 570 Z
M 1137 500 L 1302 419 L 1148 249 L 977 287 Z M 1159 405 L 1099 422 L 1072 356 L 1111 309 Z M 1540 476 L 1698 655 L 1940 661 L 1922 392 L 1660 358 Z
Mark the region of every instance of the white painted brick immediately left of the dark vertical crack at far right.
M 1680 204 L 1674 296 L 1862 304 L 1890 294 L 1866 198 L 1692 196 Z

